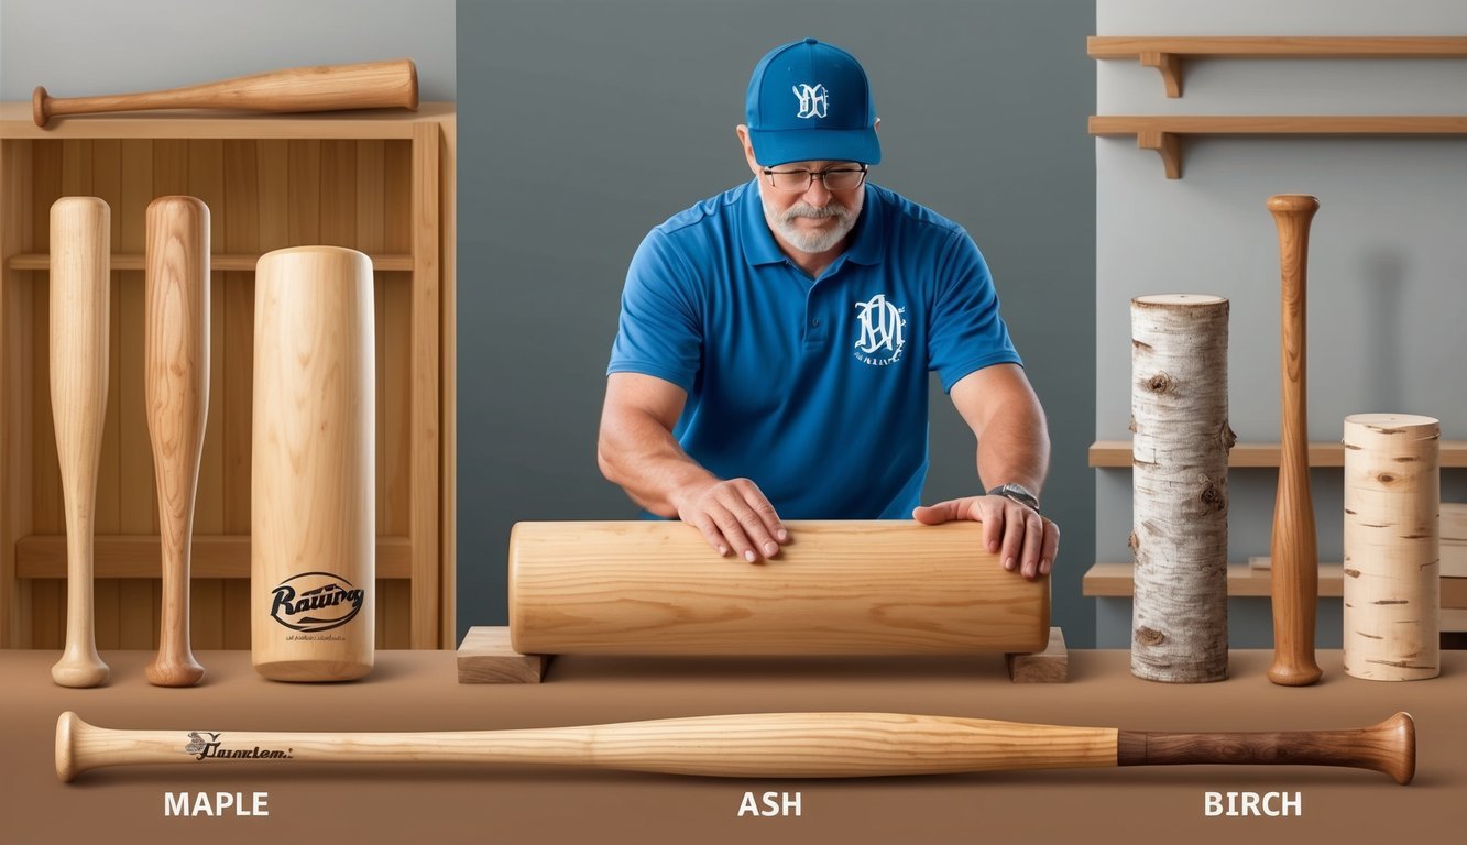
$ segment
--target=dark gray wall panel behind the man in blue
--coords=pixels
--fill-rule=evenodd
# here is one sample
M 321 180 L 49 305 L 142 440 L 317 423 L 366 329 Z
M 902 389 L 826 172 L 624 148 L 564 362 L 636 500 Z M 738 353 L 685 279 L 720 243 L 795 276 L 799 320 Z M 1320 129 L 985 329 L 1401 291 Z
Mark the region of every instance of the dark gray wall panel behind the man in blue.
M 748 178 L 734 125 L 750 70 L 816 35 L 873 79 L 873 180 L 967 226 L 993 268 L 1055 442 L 1055 621 L 1089 645 L 1091 28 L 1087 0 L 461 3 L 459 631 L 503 623 L 515 521 L 635 515 L 594 443 L 626 261 Z M 927 500 L 973 493 L 971 433 L 940 392 L 933 406 Z

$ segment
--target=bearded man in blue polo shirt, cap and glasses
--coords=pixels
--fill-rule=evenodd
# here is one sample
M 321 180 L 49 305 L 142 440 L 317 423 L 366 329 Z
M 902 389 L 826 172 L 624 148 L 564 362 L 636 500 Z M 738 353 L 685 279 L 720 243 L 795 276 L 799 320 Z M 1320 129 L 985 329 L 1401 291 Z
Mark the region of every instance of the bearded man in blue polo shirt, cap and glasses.
M 989 268 L 956 223 L 867 182 L 882 158 L 860 63 L 805 38 L 754 67 L 736 132 L 753 180 L 676 214 L 632 258 L 599 461 L 650 513 L 748 562 L 780 518 L 977 519 L 1003 566 L 1047 574 L 1049 436 Z M 927 371 L 992 489 L 918 506 Z

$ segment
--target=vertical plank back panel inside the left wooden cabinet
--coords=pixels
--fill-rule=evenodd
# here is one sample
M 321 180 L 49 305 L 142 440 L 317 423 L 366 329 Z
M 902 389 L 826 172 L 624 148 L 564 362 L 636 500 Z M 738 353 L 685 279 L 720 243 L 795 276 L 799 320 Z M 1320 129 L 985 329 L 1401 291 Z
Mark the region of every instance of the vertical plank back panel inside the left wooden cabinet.
M 111 207 L 117 252 L 142 254 L 144 213 L 156 197 L 188 194 L 210 208 L 214 252 L 263 254 L 330 244 L 368 254 L 406 254 L 411 235 L 409 141 L 381 139 L 57 139 L 32 141 L 31 213 L 19 229 L 45 252 L 48 210 L 66 195 Z M 35 534 L 65 533 L 60 472 L 45 384 L 45 274 L 35 273 L 31 311 L 31 509 Z M 195 535 L 249 533 L 254 274 L 211 279 L 213 346 L 208 425 L 200 471 Z M 113 271 L 107 422 L 97 490 L 98 534 L 157 534 L 153 452 L 142 390 L 142 273 Z M 411 524 L 411 277 L 376 273 L 377 531 L 406 535 Z M 197 578 L 194 648 L 249 647 L 248 581 Z M 411 645 L 411 582 L 377 581 L 377 647 Z M 31 647 L 60 648 L 66 582 L 28 579 L 21 625 Z M 156 578 L 101 578 L 95 585 L 97 645 L 156 648 L 161 587 Z

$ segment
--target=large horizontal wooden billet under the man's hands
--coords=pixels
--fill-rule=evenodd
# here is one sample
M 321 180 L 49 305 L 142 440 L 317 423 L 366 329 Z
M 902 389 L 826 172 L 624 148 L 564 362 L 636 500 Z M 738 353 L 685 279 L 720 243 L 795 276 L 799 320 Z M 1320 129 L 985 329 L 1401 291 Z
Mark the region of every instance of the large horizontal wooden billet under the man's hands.
M 525 654 L 1043 651 L 1049 578 L 983 549 L 976 522 L 792 521 L 764 563 L 682 522 L 521 522 L 509 631 Z

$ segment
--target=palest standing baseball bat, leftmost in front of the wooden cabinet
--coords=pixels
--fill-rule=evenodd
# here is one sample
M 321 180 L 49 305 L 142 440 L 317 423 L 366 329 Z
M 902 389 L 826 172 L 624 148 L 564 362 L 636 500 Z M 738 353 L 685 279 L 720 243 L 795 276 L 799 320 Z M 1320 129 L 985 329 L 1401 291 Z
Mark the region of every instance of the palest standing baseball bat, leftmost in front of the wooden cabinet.
M 51 678 L 62 687 L 107 681 L 92 616 L 92 535 L 107 418 L 110 248 L 104 201 L 62 197 L 51 205 L 51 415 L 66 511 L 66 650 Z

